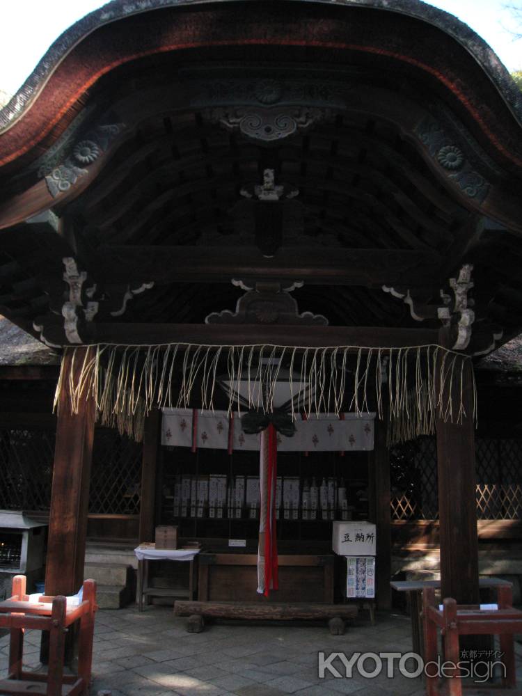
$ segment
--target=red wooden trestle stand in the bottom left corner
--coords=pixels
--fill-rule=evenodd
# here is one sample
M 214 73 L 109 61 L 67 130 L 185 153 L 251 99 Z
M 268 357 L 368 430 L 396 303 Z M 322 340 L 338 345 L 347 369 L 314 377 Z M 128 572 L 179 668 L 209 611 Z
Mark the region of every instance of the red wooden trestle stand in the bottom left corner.
M 13 596 L 0 602 L 0 627 L 10 629 L 8 678 L 0 681 L 0 694 L 37 694 L 40 696 L 88 696 L 93 662 L 93 632 L 96 583 L 84 581 L 82 601 L 67 608 L 64 596 L 40 596 L 29 601 L 26 578 L 13 578 Z M 79 625 L 78 674 L 63 674 L 65 635 L 74 622 Z M 47 672 L 24 672 L 24 629 L 49 631 Z

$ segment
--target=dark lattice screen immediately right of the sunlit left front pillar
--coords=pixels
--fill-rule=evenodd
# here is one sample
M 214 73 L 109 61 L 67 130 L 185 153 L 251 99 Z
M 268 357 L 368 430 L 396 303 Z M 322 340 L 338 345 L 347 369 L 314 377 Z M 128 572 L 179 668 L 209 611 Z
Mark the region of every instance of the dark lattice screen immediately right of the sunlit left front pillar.
M 98 429 L 90 475 L 89 512 L 139 514 L 142 445 Z

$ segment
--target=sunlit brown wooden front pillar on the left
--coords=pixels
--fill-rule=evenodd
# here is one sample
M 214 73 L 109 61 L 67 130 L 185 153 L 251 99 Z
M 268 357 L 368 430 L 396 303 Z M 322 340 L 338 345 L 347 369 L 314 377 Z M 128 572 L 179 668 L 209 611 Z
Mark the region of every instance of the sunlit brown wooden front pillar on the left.
M 71 413 L 69 376 L 73 372 L 73 377 L 78 377 L 90 351 L 89 348 L 78 348 L 74 363 L 72 351 L 64 358 L 45 572 L 45 593 L 51 595 L 76 594 L 84 580 L 95 401 L 92 394 L 86 393 L 79 413 Z

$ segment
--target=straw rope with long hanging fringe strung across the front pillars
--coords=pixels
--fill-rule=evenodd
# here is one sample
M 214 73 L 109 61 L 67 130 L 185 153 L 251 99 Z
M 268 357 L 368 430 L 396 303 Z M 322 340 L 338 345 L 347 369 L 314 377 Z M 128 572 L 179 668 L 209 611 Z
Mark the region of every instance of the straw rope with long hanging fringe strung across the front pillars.
M 290 367 L 299 391 L 306 397 L 296 408 L 307 418 L 321 412 L 342 410 L 364 413 L 375 409 L 379 418 L 388 411 L 389 444 L 433 434 L 436 420 L 460 423 L 476 419 L 476 388 L 473 365 L 468 356 L 438 345 L 409 348 L 287 347 L 283 345 L 194 345 L 175 343 L 155 346 L 93 345 L 72 352 L 68 372 L 71 409 L 78 413 L 81 400 L 92 394 L 97 420 L 118 427 L 120 433 L 140 441 L 143 422 L 152 407 L 187 408 L 196 404 L 213 411 L 218 377 L 228 374 L 228 410 L 241 413 L 235 384 L 248 379 L 249 407 L 271 413 L 280 367 Z M 62 361 L 55 397 L 65 377 Z M 77 365 L 75 366 L 77 367 Z M 464 372 L 473 382 L 471 409 L 466 413 Z M 243 376 L 243 377 L 242 377 Z M 173 393 L 173 387 L 175 393 Z M 262 385 L 262 388 L 259 386 Z M 292 377 L 289 383 L 292 394 Z M 372 404 L 369 399 L 373 400 Z M 384 406 L 387 406 L 385 409 Z M 370 408 L 371 406 L 371 408 Z

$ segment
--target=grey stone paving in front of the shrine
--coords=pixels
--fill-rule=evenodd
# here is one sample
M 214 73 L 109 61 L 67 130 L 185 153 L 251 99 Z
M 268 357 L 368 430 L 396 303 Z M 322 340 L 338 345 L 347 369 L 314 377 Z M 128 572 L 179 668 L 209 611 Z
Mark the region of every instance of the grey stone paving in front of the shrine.
M 112 696 L 423 696 L 420 679 L 383 674 L 351 679 L 327 674 L 319 679 L 317 653 L 408 652 L 409 617 L 378 615 L 371 626 L 361 613 L 345 635 L 330 635 L 326 626 L 259 626 L 217 624 L 203 633 L 187 633 L 172 608 L 148 606 L 97 612 L 91 694 Z M 38 665 L 40 633 L 27 631 L 27 667 Z M 519 646 L 519 679 L 522 654 Z M 8 636 L 0 638 L 0 674 L 6 673 Z M 340 662 L 335 667 L 342 669 Z M 373 663 L 366 665 L 368 670 Z

